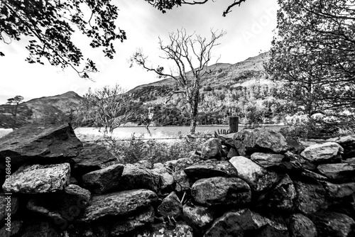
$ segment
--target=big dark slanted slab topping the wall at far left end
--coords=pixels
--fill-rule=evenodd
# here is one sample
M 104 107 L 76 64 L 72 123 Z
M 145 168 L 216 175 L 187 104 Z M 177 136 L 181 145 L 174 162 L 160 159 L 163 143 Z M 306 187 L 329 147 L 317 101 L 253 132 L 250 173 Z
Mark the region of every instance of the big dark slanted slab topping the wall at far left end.
M 0 138 L 0 160 L 10 157 L 13 169 L 33 160 L 55 163 L 77 156 L 80 148 L 69 124 L 31 123 Z

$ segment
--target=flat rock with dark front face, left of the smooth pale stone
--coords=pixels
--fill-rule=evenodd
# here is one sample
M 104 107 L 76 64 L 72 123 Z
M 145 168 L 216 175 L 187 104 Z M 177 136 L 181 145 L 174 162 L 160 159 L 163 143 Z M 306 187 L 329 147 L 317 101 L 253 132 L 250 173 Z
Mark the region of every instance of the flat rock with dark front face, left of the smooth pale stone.
M 200 180 L 208 177 L 238 177 L 238 171 L 226 160 L 201 160 L 184 169 L 187 177 Z

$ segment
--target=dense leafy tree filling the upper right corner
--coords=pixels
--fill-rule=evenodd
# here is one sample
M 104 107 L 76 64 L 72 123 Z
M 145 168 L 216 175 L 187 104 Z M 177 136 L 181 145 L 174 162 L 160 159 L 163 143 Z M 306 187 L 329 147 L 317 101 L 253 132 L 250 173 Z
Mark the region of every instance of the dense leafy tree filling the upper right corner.
M 289 114 L 355 112 L 355 1 L 279 0 L 266 70 Z

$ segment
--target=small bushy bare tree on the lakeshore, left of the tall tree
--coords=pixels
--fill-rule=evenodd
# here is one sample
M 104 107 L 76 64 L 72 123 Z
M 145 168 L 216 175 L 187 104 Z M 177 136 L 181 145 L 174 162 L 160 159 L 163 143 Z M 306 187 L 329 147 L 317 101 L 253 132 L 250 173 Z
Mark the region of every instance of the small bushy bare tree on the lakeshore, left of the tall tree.
M 98 126 L 104 126 L 104 133 L 112 133 L 114 128 L 126 123 L 126 118 L 130 116 L 130 99 L 124 94 L 118 84 L 113 88 L 108 86 L 96 89 L 85 94 L 86 107 L 88 111 L 94 111 L 94 120 Z

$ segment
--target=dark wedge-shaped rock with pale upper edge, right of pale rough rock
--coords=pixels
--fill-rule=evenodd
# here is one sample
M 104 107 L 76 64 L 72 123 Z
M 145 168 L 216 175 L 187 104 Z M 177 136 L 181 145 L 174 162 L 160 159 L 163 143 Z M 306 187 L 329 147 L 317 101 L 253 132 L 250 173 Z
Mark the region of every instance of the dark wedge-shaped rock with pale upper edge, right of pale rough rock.
M 94 194 L 104 194 L 119 187 L 124 165 L 110 165 L 82 176 L 82 185 Z

